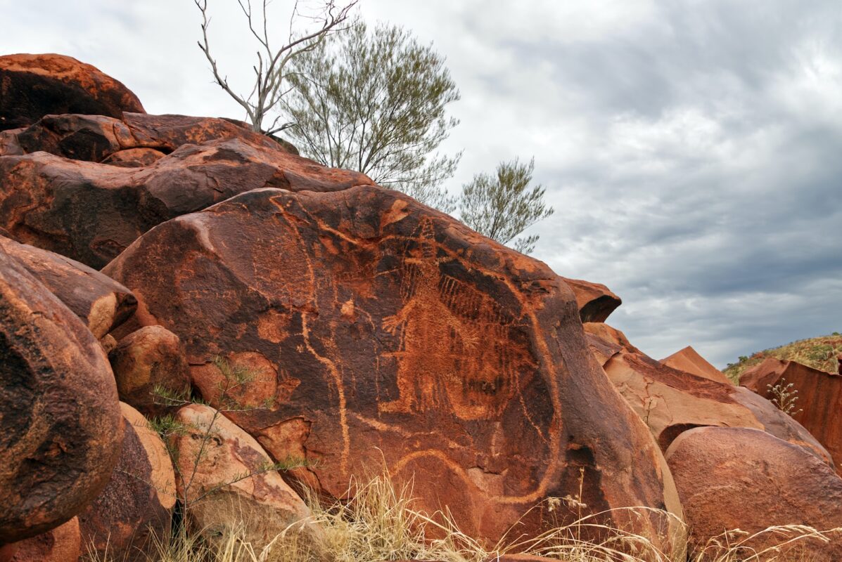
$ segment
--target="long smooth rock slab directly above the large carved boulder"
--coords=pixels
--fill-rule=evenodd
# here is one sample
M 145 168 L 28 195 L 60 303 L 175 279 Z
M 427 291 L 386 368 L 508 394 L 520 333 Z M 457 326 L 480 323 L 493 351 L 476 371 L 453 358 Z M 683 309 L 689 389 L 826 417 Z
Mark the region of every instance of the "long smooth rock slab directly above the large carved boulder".
M 326 191 L 370 183 L 359 172 L 327 170 L 242 139 L 184 145 L 141 168 L 42 152 L 4 156 L 0 228 L 21 242 L 102 268 L 152 226 L 235 194 L 263 187 Z

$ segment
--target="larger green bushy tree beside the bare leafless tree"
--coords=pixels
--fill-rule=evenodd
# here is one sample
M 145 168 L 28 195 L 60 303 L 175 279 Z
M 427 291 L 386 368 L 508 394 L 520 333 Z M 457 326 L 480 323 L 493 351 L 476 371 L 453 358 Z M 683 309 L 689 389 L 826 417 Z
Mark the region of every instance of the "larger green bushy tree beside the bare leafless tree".
M 450 212 L 441 183 L 461 153 L 437 150 L 458 121 L 445 106 L 459 99 L 445 59 L 407 31 L 358 21 L 290 62 L 283 106 L 287 130 L 305 156 L 364 172 L 384 187 Z

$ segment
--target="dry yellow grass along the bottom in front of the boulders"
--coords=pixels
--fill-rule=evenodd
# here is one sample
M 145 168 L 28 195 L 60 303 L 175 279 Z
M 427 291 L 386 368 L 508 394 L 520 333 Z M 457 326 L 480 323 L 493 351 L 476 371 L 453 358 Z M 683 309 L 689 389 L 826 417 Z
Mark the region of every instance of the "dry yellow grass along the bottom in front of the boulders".
M 459 531 L 447 514 L 429 517 L 413 509 L 412 489 L 397 488 L 388 478 L 377 477 L 354 486 L 354 499 L 322 506 L 315 498 L 312 519 L 324 530 L 318 552 L 298 540 L 291 525 L 263 549 L 243 539 L 242 523 L 232 525 L 221 537 L 205 542 L 201 533 L 176 533 L 167 543 L 157 543 L 150 562 L 380 562 L 418 559 L 442 562 L 482 562 L 504 554 L 532 554 L 564 562 L 811 562 L 781 549 L 809 541 L 842 540 L 842 528 L 819 532 L 792 525 L 771 527 L 760 533 L 732 531 L 711 540 L 705 549 L 686 557 L 668 556 L 647 538 L 620 529 L 605 528 L 598 515 L 582 517 L 528 540 L 507 540 L 488 546 Z M 646 512 L 647 508 L 638 511 Z M 605 536 L 600 543 L 580 539 L 589 528 Z M 760 535 L 776 539 L 776 546 L 754 551 L 747 545 Z M 95 560 L 94 562 L 108 562 Z

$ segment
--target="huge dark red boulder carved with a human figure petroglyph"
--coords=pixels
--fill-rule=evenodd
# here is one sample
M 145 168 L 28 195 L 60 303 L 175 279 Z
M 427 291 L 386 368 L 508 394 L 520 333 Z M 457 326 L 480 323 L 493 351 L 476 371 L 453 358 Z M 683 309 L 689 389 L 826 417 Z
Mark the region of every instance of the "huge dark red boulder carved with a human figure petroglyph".
M 136 318 L 179 334 L 206 398 L 225 378 L 214 358 L 254 374 L 233 397 L 271 407 L 229 416 L 274 459 L 310 461 L 296 476 L 330 495 L 385 460 L 477 537 L 580 484 L 597 512 L 680 512 L 557 275 L 403 194 L 337 190 L 241 194 L 160 225 L 104 273 L 135 292 Z M 545 507 L 519 532 L 556 515 Z

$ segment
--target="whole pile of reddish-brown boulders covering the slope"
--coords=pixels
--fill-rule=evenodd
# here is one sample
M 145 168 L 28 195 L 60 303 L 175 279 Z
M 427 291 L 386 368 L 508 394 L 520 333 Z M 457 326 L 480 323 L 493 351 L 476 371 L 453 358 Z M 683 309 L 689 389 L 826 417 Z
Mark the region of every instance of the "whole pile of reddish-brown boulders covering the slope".
M 682 519 L 693 545 L 765 522 L 722 509 L 796 461 L 804 501 L 829 496 L 757 508 L 842 522 L 821 415 L 805 429 L 690 347 L 647 357 L 605 285 L 242 123 L 145 114 L 69 57 L 0 57 L 0 84 L 6 558 L 140 560 L 173 513 L 212 540 L 233 506 L 254 544 L 292 525 L 319 549 L 302 490 L 383 470 L 488 543 L 599 514 L 679 555 Z

